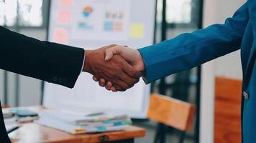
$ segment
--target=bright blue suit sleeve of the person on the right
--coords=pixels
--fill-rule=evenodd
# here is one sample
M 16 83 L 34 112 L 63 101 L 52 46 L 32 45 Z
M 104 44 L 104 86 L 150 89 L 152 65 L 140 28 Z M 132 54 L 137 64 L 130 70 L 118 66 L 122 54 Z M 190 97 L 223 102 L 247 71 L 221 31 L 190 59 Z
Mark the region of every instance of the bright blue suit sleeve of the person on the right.
M 239 49 L 248 22 L 247 3 L 240 7 L 225 24 L 180 34 L 174 39 L 138 49 L 145 63 L 145 82 L 224 56 Z

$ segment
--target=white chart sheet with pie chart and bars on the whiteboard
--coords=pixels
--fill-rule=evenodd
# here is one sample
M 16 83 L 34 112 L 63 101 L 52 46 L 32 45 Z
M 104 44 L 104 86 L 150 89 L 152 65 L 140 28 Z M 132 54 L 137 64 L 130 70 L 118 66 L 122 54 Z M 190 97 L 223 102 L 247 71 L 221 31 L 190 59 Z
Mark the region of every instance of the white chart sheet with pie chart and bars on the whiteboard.
M 71 39 L 127 40 L 130 0 L 76 1 Z

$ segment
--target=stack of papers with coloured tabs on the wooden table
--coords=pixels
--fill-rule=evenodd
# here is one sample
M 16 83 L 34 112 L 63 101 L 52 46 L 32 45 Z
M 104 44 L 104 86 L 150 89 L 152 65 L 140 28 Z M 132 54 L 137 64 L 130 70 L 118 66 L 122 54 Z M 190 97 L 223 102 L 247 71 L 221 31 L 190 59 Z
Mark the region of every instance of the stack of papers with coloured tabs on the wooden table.
M 127 115 L 111 112 L 85 116 L 75 112 L 46 110 L 39 115 L 40 119 L 35 121 L 38 124 L 60 129 L 71 134 L 116 131 L 125 129 L 128 124 L 132 124 Z

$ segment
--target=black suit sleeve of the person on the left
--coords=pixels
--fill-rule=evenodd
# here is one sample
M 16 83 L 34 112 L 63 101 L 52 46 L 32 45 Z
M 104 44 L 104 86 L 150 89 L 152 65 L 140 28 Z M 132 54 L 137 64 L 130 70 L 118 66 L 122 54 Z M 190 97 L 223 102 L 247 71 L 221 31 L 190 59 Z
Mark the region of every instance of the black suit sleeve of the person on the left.
M 0 26 L 0 69 L 72 88 L 84 50 L 17 34 Z

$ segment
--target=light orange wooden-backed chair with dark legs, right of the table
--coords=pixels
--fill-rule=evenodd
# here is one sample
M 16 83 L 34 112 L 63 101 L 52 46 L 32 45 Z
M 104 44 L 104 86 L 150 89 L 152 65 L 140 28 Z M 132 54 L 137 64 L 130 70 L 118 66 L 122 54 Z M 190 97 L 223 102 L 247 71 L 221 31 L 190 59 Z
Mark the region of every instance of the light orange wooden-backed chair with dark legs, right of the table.
M 157 129 L 155 142 L 165 142 L 165 125 L 179 129 L 182 134 L 179 142 L 182 143 L 186 131 L 191 129 L 195 118 L 196 107 L 187 102 L 173 99 L 160 94 L 150 95 L 150 107 L 147 118 L 162 124 Z

